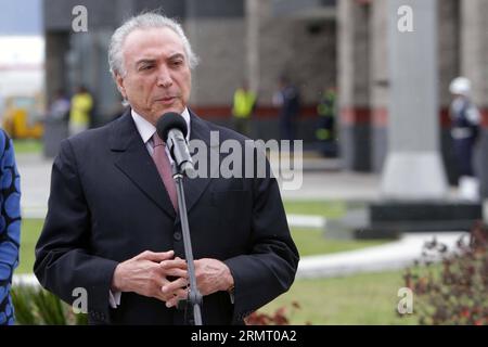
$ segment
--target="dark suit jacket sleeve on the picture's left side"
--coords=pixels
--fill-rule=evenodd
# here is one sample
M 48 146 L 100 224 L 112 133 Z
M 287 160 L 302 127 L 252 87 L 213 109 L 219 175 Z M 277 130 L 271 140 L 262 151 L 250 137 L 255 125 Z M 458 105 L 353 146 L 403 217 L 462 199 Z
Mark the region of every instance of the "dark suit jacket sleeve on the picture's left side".
M 110 287 L 117 262 L 90 254 L 91 220 L 69 140 L 61 144 L 51 175 L 48 215 L 36 245 L 34 272 L 67 304 L 86 307 L 92 320 L 108 322 Z

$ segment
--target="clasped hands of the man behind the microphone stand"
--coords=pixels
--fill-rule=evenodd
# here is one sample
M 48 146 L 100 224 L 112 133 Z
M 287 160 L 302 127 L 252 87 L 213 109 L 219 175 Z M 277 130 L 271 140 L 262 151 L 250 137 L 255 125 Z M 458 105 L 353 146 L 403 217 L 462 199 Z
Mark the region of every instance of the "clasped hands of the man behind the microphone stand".
M 229 267 L 217 259 L 194 261 L 196 286 L 203 296 L 228 291 L 234 281 Z M 188 297 L 187 261 L 175 257 L 174 250 L 145 250 L 117 265 L 112 278 L 113 292 L 133 292 L 154 297 L 174 307 Z

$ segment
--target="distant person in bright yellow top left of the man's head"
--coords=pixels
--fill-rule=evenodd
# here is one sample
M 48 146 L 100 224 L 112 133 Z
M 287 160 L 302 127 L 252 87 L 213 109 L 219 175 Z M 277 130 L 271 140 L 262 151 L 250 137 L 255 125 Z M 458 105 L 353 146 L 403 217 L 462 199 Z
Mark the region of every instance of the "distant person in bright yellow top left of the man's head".
M 90 127 L 90 115 L 93 108 L 93 98 L 87 88 L 78 87 L 77 92 L 72 98 L 72 108 L 69 111 L 69 134 L 74 136 L 85 131 Z

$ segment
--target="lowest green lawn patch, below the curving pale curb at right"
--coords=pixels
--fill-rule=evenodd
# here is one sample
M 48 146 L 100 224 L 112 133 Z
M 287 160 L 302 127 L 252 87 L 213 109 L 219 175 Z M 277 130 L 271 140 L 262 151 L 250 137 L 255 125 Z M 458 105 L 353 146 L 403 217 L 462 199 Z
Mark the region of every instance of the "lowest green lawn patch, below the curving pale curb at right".
M 292 324 L 416 324 L 415 314 L 399 317 L 396 311 L 401 299 L 397 293 L 403 286 L 401 275 L 401 271 L 388 271 L 296 280 L 287 293 L 259 311 L 272 313 L 286 307 Z M 294 301 L 299 309 L 293 309 Z

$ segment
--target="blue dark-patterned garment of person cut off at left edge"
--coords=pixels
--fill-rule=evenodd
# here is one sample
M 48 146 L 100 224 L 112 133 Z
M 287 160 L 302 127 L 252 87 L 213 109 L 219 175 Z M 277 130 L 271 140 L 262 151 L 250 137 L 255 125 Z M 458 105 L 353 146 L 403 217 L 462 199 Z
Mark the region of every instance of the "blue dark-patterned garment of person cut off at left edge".
M 12 140 L 0 129 L 0 325 L 14 324 L 10 288 L 21 244 L 20 185 Z

